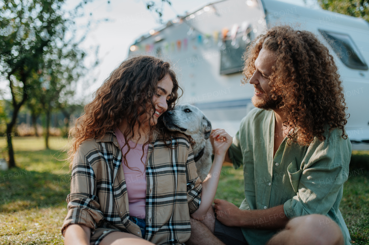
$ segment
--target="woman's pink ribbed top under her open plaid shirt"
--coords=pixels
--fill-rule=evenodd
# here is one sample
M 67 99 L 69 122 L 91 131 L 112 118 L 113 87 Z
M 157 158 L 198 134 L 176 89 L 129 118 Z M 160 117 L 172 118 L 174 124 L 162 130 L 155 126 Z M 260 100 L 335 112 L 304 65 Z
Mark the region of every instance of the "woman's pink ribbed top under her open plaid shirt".
M 125 138 L 118 128 L 115 129 L 115 136 L 117 136 L 119 146 L 123 147 L 125 144 Z M 127 184 L 128 208 L 130 210 L 130 216 L 145 219 L 146 173 L 144 163 L 146 162 L 148 145 L 145 146 L 145 154 L 144 157 L 142 157 L 142 145 L 137 144 L 135 147 L 136 143 L 132 141 L 128 141 L 128 144 L 131 146 L 131 149 L 126 156 L 126 159 L 128 166 L 133 170 L 125 166 L 124 161 L 122 161 L 125 183 Z M 127 150 L 128 146 L 124 146 L 122 149 L 123 155 Z M 144 163 L 142 163 L 141 157 Z

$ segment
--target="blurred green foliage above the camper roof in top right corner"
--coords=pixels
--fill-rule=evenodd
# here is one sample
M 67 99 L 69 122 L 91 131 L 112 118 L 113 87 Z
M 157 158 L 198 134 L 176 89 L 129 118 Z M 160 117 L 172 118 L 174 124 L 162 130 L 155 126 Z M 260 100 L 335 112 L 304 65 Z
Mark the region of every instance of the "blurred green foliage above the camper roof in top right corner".
M 325 10 L 361 17 L 369 22 L 369 0 L 318 0 L 318 3 Z

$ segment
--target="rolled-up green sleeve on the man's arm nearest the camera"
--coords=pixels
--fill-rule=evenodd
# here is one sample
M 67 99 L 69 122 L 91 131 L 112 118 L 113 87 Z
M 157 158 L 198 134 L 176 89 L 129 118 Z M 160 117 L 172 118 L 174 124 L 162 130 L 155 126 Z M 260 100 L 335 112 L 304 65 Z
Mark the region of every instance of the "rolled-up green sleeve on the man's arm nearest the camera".
M 306 168 L 288 170 L 290 180 L 296 183 L 296 196 L 283 207 L 289 219 L 307 214 L 328 214 L 341 200 L 343 184 L 348 178 L 351 144 L 344 139 L 316 143 L 308 149 Z M 292 170 L 293 168 L 291 168 Z M 294 187 L 295 188 L 295 187 Z M 341 196 L 339 196 L 341 195 Z

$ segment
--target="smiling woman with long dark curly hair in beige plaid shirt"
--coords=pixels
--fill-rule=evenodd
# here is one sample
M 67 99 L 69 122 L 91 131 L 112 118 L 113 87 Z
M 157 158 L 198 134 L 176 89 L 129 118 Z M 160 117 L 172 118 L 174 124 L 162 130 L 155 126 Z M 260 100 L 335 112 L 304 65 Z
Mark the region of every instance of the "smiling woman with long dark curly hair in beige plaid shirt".
M 161 127 L 179 89 L 170 64 L 152 56 L 128 58 L 97 89 L 70 131 L 65 244 L 182 244 L 190 237 L 190 217 L 202 220 L 213 202 L 214 173 L 232 138 L 213 133 L 214 162 L 201 183 L 192 142 Z

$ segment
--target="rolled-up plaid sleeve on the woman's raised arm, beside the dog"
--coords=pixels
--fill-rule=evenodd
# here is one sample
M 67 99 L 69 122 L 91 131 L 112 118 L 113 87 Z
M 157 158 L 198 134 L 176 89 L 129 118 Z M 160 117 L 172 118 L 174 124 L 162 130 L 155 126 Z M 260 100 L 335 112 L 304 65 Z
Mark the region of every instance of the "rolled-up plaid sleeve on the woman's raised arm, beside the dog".
M 201 203 L 201 179 L 197 175 L 197 169 L 193 158 L 193 151 L 190 147 L 190 153 L 186 162 L 187 175 L 187 202 L 190 214 L 194 213 Z

